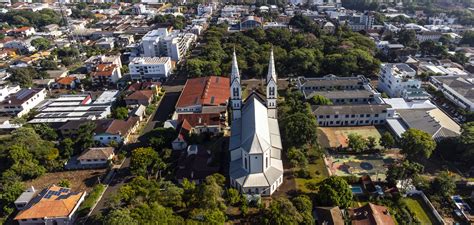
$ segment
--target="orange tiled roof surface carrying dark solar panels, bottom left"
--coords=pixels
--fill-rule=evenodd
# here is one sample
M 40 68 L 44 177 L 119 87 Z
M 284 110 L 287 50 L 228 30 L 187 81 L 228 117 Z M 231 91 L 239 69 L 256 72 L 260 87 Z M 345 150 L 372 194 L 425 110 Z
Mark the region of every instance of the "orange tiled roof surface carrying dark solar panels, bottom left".
M 68 217 L 85 194 L 53 185 L 36 196 L 33 203 L 20 211 L 15 220 Z

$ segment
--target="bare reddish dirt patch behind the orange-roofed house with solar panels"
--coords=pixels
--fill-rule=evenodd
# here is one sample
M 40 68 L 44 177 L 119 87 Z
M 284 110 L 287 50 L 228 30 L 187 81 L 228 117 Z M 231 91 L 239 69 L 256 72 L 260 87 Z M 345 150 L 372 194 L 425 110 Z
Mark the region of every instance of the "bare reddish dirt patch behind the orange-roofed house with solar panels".
M 41 190 L 65 179 L 71 183 L 70 188 L 73 191 L 90 192 L 94 184 L 98 182 L 98 178 L 104 175 L 105 171 L 105 169 L 97 169 L 46 173 L 39 178 L 25 182 L 25 186 L 34 186 L 37 190 Z

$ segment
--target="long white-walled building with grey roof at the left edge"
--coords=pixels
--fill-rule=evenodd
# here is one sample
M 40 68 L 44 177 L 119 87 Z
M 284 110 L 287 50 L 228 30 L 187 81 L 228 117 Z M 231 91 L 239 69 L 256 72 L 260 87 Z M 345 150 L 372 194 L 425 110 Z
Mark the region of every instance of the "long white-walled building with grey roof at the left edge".
M 46 97 L 46 89 L 21 89 L 8 95 L 0 102 L 0 113 L 22 117 L 41 103 Z

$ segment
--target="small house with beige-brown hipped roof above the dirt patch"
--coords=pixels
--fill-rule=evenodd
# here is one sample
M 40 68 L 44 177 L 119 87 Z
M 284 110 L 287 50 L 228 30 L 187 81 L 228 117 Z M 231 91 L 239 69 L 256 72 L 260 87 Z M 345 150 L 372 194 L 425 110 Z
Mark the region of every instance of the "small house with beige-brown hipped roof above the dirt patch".
M 114 158 L 113 147 L 88 148 L 77 157 L 79 164 L 83 166 L 107 166 Z

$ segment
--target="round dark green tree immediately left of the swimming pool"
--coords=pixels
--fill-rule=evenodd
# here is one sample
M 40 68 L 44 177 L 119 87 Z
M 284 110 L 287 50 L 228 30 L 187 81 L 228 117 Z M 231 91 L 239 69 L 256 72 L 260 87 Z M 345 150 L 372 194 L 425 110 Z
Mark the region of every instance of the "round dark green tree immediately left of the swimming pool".
M 352 191 L 342 177 L 328 177 L 319 185 L 317 200 L 323 206 L 347 208 L 352 202 Z

